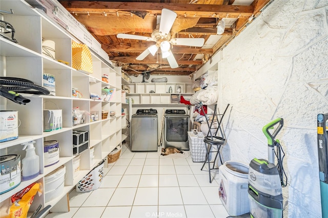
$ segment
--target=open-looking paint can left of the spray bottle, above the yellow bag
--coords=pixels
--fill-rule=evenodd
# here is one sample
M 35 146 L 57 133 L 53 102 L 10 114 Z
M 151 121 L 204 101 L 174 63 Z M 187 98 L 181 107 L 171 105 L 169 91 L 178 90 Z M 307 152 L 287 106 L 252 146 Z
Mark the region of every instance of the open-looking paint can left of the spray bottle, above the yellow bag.
M 20 155 L 0 156 L 0 195 L 20 184 Z

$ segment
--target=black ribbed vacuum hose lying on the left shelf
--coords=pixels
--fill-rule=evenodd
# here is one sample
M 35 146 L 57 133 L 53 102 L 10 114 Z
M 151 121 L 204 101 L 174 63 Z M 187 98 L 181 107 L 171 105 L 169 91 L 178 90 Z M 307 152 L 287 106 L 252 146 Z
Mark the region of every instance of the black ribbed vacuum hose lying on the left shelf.
M 36 91 L 32 91 L 34 89 Z M 16 92 L 28 93 L 28 94 L 50 94 L 50 91 L 42 86 L 35 85 L 32 81 L 15 78 L 15 77 L 0 77 L 0 95 L 17 103 L 23 104 L 29 103 L 30 100 L 24 98 Z

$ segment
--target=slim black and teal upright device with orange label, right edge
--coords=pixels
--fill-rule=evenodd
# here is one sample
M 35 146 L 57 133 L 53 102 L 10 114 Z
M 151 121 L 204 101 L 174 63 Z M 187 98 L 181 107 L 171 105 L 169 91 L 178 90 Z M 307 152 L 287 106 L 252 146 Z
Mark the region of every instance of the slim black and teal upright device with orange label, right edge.
M 318 158 L 322 217 L 328 218 L 328 113 L 318 114 Z

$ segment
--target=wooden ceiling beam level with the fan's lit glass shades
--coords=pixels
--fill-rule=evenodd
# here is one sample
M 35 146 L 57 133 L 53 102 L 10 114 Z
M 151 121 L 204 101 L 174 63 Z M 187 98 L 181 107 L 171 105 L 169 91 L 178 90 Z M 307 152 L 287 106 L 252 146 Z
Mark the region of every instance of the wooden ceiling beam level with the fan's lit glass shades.
M 150 45 L 154 43 L 148 42 L 129 42 L 129 43 L 112 43 L 101 44 L 101 49 L 106 53 L 121 52 L 121 53 L 141 53 L 144 52 Z M 213 49 L 190 49 L 189 47 L 174 46 L 171 50 L 173 54 L 213 54 Z M 158 50 L 160 53 L 160 50 Z

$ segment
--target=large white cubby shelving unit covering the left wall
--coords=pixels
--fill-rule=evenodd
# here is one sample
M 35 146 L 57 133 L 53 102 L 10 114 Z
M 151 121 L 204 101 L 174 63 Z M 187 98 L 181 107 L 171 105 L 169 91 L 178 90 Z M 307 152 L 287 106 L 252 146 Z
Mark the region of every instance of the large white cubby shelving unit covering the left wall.
M 51 211 L 68 211 L 69 204 L 67 193 L 86 176 L 101 160 L 114 150 L 122 141 L 122 95 L 121 95 L 121 69 L 112 66 L 108 61 L 92 54 L 93 74 L 86 74 L 71 67 L 72 41 L 78 39 L 56 25 L 42 12 L 31 8 L 25 1 L 2 1 L 1 9 L 14 14 L 3 13 L 4 20 L 15 28 L 15 38 L 18 43 L 0 37 L 0 72 L 2 77 L 17 77 L 33 81 L 36 85 L 43 86 L 43 74 L 55 76 L 55 96 L 22 94 L 31 100 L 26 105 L 19 105 L 1 98 L 1 110 L 18 111 L 20 125 L 18 138 L 1 142 L 1 155 L 19 154 L 20 160 L 25 157 L 21 143 L 35 140 L 35 152 L 39 156 L 40 175 L 36 178 L 23 181 L 15 188 L 0 195 L 1 207 L 14 193 L 24 189 L 33 182 L 44 186 L 45 176 L 58 167 L 65 165 L 65 189 L 63 193 L 45 202 L 45 192 L 36 195 L 30 207 L 33 212 L 39 204 L 43 207 L 51 205 Z M 69 64 L 60 63 L 42 53 L 43 39 L 55 42 L 55 59 L 67 61 Z M 80 42 L 79 42 L 80 43 Z M 109 82 L 101 80 L 103 74 L 109 75 Z M 101 96 L 102 88 L 115 88 L 116 92 L 111 101 L 92 100 L 90 92 Z M 76 88 L 82 95 L 81 98 L 72 98 L 72 88 Z M 73 126 L 72 108 L 79 107 L 86 111 L 86 120 L 83 124 Z M 63 128 L 55 131 L 44 132 L 43 110 L 62 110 Z M 115 111 L 114 116 L 101 118 L 101 111 Z M 90 113 L 96 112 L 98 120 L 90 120 Z M 79 154 L 79 171 L 73 170 L 73 144 L 72 131 L 89 131 L 89 148 Z M 45 167 L 44 141 L 57 140 L 59 142 L 59 162 Z M 93 149 L 91 157 L 90 149 Z M 24 167 L 24 166 L 23 166 Z

